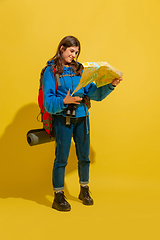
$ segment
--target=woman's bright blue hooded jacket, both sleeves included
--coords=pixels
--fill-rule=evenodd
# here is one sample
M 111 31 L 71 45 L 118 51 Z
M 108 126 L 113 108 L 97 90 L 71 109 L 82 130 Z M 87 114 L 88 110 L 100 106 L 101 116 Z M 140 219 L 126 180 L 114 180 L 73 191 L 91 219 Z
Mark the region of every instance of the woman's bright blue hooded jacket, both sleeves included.
M 47 112 L 53 115 L 65 115 L 65 110 L 68 105 L 63 104 L 63 99 L 68 93 L 68 90 L 71 90 L 71 93 L 79 84 L 81 76 L 64 76 L 63 75 L 70 75 L 75 74 L 72 70 L 72 67 L 65 67 L 62 73 L 62 77 L 60 78 L 61 86 L 58 86 L 56 91 L 56 84 L 54 73 L 51 70 L 51 65 L 53 61 L 48 62 L 49 67 L 46 68 L 44 75 L 43 75 L 43 101 L 44 106 Z M 73 96 L 79 96 L 83 98 L 84 96 L 88 96 L 91 100 L 101 101 L 103 100 L 108 94 L 110 94 L 114 90 L 114 86 L 110 83 L 108 85 L 102 86 L 100 88 L 96 87 L 96 84 L 90 83 L 86 87 L 81 88 L 77 91 Z M 87 115 L 89 115 L 88 108 Z M 85 104 L 81 103 L 77 105 L 76 110 L 76 117 L 85 117 Z

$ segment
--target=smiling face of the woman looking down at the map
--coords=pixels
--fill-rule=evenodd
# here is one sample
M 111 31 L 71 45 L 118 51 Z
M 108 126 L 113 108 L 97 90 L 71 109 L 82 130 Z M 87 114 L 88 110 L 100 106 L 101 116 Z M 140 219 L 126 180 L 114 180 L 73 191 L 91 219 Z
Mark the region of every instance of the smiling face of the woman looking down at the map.
M 62 57 L 64 59 L 64 64 L 69 64 L 76 57 L 79 51 L 79 47 L 72 46 L 72 47 L 66 48 L 66 50 L 63 50 L 63 46 L 62 46 L 61 51 L 62 51 Z

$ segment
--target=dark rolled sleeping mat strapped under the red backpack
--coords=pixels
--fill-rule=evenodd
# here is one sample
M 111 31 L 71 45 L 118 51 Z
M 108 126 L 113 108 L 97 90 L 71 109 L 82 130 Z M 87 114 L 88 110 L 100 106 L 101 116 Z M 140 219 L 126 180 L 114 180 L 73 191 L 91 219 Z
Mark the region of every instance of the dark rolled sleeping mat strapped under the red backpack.
M 27 133 L 27 142 L 30 146 L 54 141 L 54 137 L 50 137 L 48 133 L 42 129 L 33 129 Z

